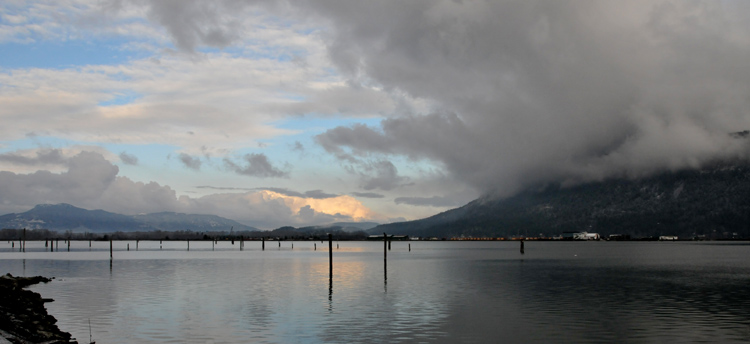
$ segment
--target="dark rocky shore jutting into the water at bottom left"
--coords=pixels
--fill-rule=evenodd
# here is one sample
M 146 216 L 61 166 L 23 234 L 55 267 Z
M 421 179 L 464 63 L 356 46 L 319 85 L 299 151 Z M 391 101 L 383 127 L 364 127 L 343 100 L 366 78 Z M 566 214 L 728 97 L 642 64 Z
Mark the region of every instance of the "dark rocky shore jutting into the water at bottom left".
M 24 289 L 49 281 L 42 276 L 0 276 L 0 344 L 77 343 L 70 333 L 60 331 L 55 317 L 47 314 L 44 303 L 53 300 Z

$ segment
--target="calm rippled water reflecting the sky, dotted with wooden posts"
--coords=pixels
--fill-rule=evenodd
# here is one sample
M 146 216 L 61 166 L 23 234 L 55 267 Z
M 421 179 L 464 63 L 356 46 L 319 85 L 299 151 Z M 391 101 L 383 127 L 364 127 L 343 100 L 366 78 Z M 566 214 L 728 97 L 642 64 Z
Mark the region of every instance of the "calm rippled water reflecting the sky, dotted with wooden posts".
M 2 242 L 0 272 L 55 276 L 81 343 L 750 342 L 748 243 L 340 242 L 332 283 L 327 243 L 127 244 Z

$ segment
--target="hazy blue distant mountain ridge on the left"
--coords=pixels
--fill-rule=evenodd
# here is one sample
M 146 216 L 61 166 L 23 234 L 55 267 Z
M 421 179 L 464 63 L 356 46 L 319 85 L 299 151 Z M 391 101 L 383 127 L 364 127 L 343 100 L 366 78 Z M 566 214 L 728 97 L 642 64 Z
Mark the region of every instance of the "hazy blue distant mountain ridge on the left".
M 135 232 L 135 231 L 179 231 L 195 232 L 258 231 L 215 215 L 193 215 L 180 213 L 153 213 L 145 215 L 121 215 L 104 210 L 86 210 L 70 204 L 40 204 L 19 214 L 0 216 L 0 228 L 49 229 L 73 232 Z

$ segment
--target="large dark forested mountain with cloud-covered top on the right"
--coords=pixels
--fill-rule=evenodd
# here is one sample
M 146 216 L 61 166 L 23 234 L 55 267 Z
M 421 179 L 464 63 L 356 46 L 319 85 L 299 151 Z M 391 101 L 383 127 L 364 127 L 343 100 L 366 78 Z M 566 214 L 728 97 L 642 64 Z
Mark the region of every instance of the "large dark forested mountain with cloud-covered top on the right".
M 509 237 L 556 236 L 565 231 L 748 238 L 750 165 L 715 164 L 574 187 L 548 185 L 506 199 L 480 198 L 426 219 L 381 225 L 368 232 Z

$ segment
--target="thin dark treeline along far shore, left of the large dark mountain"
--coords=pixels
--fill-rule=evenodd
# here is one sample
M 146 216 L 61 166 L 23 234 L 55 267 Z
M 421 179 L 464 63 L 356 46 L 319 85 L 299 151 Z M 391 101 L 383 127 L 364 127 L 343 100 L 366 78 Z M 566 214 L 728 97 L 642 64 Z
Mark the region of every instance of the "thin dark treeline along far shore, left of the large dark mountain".
M 242 232 L 194 232 L 194 231 L 146 231 L 146 232 L 112 232 L 86 233 L 72 231 L 51 231 L 48 229 L 27 229 L 26 240 L 71 239 L 71 240 L 327 240 L 328 233 L 335 240 L 363 240 L 367 234 L 363 231 L 345 232 L 340 229 L 297 231 L 283 227 L 273 231 Z M 0 230 L 0 240 L 21 240 L 23 229 L 5 228 Z

